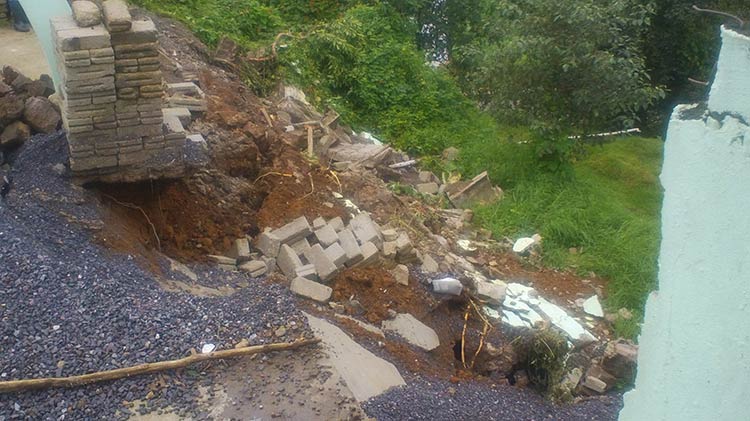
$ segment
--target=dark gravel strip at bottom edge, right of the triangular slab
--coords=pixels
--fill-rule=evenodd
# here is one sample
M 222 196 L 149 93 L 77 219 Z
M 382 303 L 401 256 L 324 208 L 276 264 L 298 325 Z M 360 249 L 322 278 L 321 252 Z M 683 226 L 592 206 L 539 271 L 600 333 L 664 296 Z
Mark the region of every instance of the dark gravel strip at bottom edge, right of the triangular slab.
M 600 397 L 574 405 L 555 406 L 529 390 L 490 388 L 482 383 L 452 384 L 411 379 L 362 405 L 368 415 L 387 420 L 616 420 L 621 399 Z

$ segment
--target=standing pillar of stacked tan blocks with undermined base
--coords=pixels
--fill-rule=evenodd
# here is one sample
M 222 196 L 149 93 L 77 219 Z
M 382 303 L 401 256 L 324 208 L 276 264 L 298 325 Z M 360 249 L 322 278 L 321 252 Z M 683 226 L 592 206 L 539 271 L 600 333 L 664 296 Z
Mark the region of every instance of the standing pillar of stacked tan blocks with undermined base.
M 73 174 L 99 181 L 180 176 L 186 135 L 164 124 L 154 23 L 134 21 L 121 0 L 105 1 L 99 19 L 92 6 L 85 19 L 51 19 Z

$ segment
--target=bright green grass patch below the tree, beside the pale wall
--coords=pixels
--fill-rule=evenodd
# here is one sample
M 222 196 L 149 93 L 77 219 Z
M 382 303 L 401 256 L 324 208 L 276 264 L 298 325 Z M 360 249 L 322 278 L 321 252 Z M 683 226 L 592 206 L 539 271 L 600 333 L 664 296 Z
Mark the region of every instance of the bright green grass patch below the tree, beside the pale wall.
M 530 148 L 518 139 L 523 131 L 511 130 L 499 139 L 462 145 L 460 165 L 468 175 L 484 166 L 506 187 L 503 200 L 475 209 L 477 222 L 511 238 L 540 233 L 546 265 L 608 279 L 605 305 L 636 315 L 616 323 L 615 330 L 634 337 L 656 285 L 662 141 L 631 137 L 587 147 L 572 176 L 561 178 L 534 172 Z

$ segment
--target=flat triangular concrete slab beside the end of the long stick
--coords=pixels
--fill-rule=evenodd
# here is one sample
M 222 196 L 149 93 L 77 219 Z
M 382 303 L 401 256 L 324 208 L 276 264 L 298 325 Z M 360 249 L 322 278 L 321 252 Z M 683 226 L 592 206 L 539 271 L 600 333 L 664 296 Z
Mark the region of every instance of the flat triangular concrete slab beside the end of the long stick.
M 355 399 L 364 402 L 393 387 L 406 385 L 393 364 L 366 350 L 331 323 L 303 314 Z

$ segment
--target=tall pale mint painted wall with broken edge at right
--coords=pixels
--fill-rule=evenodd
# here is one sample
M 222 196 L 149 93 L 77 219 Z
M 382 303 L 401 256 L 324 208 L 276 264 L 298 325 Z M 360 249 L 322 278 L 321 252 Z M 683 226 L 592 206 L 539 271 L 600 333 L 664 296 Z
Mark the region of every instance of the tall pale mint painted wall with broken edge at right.
M 721 112 L 678 106 L 669 124 L 659 290 L 622 421 L 750 420 L 750 38 L 722 39 Z

